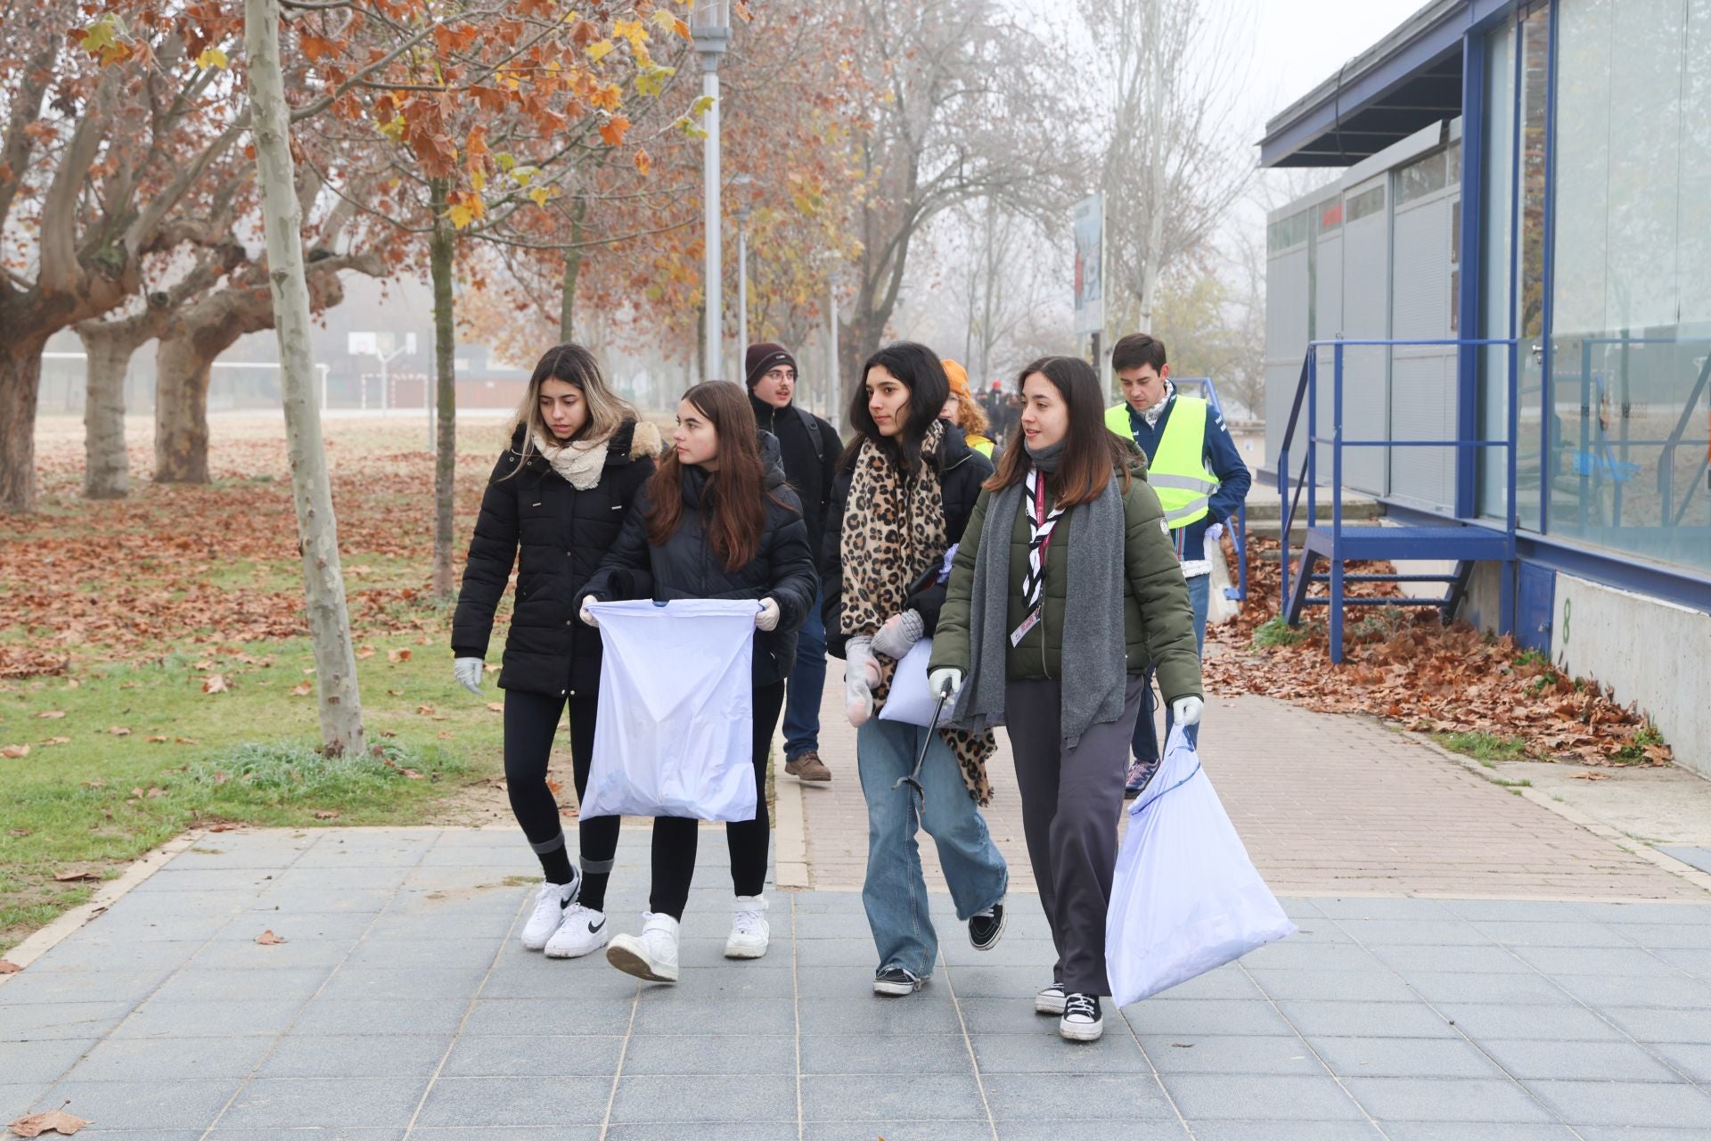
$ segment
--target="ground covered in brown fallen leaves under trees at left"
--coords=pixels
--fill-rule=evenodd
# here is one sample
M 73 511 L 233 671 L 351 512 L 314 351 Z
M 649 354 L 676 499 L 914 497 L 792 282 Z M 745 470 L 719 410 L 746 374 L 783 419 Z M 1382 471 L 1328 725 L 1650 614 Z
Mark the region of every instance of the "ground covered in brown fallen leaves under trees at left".
M 12 630 L 27 635 L 0 645 L 0 679 L 145 660 L 168 645 L 308 635 L 284 438 L 243 421 L 219 428 L 207 486 L 149 482 L 145 441 L 133 440 L 133 491 L 121 505 L 82 500 L 80 438 L 44 433 L 44 510 L 10 518 L 0 541 L 0 595 Z M 429 590 L 433 457 L 417 435 L 402 424 L 329 424 L 358 638 L 445 636 L 447 614 Z M 459 561 L 498 452 L 484 446 L 496 440 L 493 424 L 467 435 L 457 474 Z M 366 565 L 378 559 L 390 565 Z

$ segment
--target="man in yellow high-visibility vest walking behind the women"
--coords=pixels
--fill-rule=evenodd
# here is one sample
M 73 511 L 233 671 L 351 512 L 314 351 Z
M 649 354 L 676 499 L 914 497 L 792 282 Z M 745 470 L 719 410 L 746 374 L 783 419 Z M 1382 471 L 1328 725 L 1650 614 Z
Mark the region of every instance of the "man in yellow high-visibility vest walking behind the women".
M 1218 539 L 1223 523 L 1247 498 L 1254 477 L 1230 438 L 1223 417 L 1199 397 L 1186 397 L 1170 381 L 1162 340 L 1129 334 L 1110 349 L 1110 369 L 1122 383 L 1122 404 L 1105 411 L 1105 426 L 1133 440 L 1146 455 L 1146 481 L 1158 493 L 1165 525 L 1175 546 L 1189 604 L 1194 607 L 1194 648 L 1206 645 L 1206 604 L 1211 592 L 1211 558 L 1223 558 Z M 1165 736 L 1175 724 L 1165 706 Z M 1199 725 L 1187 725 L 1199 744 Z M 1152 686 L 1141 695 L 1134 724 L 1126 794 L 1140 795 L 1158 768 L 1160 737 Z

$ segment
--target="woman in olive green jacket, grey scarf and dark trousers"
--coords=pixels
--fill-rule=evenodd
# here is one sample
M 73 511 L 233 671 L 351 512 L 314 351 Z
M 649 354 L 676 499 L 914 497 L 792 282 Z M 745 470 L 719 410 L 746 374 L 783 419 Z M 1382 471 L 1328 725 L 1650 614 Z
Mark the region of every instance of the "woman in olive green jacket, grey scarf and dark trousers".
M 1021 373 L 1021 441 L 986 482 L 951 563 L 929 689 L 955 725 L 1006 725 L 1021 825 L 1057 963 L 1035 1009 L 1064 1038 L 1102 1033 L 1105 910 L 1129 736 L 1157 667 L 1182 724 L 1199 718 L 1187 588 L 1133 443 L 1100 426 L 1076 358 Z M 1069 600 L 1075 606 L 1069 606 Z

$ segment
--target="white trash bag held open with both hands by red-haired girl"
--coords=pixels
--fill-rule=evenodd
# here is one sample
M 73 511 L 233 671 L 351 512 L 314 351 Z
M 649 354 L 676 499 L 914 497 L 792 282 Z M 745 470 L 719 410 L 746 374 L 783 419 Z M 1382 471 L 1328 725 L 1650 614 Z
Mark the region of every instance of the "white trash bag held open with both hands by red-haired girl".
M 601 720 L 583 816 L 755 819 L 755 602 L 590 602 Z

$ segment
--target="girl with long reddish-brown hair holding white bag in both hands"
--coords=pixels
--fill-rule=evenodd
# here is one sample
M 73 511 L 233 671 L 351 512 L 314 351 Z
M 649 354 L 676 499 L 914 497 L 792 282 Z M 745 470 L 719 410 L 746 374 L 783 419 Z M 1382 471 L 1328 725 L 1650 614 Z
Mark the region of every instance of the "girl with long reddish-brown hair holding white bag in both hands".
M 621 597 L 619 578 L 650 582 L 655 600 L 755 599 L 755 819 L 725 825 L 736 919 L 725 958 L 767 953 L 767 756 L 796 662 L 796 631 L 818 582 L 796 493 L 779 467 L 779 441 L 755 428 L 737 385 L 696 385 L 678 404 L 676 445 L 648 481 L 623 534 L 587 587 L 590 600 Z M 594 623 L 587 606 L 583 621 Z M 654 891 L 640 936 L 616 936 L 606 958 L 655 982 L 678 980 L 678 931 L 695 874 L 698 821 L 654 821 Z

